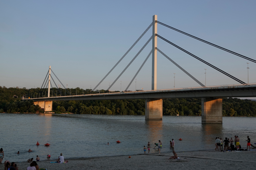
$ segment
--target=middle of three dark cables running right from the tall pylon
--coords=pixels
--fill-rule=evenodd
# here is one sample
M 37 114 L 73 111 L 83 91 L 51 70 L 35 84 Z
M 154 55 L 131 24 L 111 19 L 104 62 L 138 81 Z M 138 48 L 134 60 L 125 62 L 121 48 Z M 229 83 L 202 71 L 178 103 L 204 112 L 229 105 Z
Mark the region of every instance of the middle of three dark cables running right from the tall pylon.
M 183 48 L 177 46 L 176 44 L 172 43 L 171 41 L 166 40 L 165 38 L 161 37 L 160 35 L 156 34 L 156 36 L 158 36 L 158 37 L 161 38 L 162 40 L 164 40 L 164 41 L 166 41 L 166 42 L 172 44 L 174 47 L 179 48 L 180 50 L 184 51 L 184 52 L 187 53 L 188 55 L 191 55 L 192 57 L 196 58 L 197 60 L 199 60 L 199 61 L 201 61 L 201 62 L 203 62 L 203 63 L 209 65 L 210 67 L 214 68 L 215 70 L 218 70 L 218 71 L 220 71 L 221 73 L 225 74 L 226 76 L 228 76 L 228 77 L 230 77 L 230 78 L 236 80 L 237 82 L 239 82 L 239 83 L 241 83 L 241 84 L 246 84 L 246 83 L 244 83 L 243 81 L 239 80 L 238 78 L 235 78 L 234 76 L 231 76 L 230 74 L 226 73 L 225 71 L 220 70 L 219 68 L 215 67 L 214 65 L 212 65 L 212 64 L 210 64 L 210 63 L 204 61 L 203 59 L 197 57 L 196 55 L 189 53 L 188 51 L 186 51 L 185 49 L 183 49 Z

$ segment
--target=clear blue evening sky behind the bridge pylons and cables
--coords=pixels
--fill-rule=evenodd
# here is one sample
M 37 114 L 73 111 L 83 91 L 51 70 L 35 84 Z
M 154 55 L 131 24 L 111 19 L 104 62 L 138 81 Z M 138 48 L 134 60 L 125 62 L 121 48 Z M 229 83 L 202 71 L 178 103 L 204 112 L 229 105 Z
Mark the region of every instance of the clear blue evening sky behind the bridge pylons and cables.
M 0 86 L 41 87 L 51 66 L 68 88 L 94 88 L 157 15 L 158 21 L 256 60 L 256 1 L 0 1 Z M 158 24 L 157 33 L 232 76 L 255 83 L 256 63 Z M 152 28 L 101 83 L 107 89 L 152 35 Z M 157 47 L 206 85 L 239 84 L 178 48 Z M 124 90 L 152 41 L 110 90 Z M 206 80 L 205 80 L 205 70 Z M 151 90 L 152 56 L 136 77 Z M 157 53 L 157 89 L 200 86 Z M 54 78 L 56 84 L 57 78 Z M 122 81 L 122 82 L 121 82 Z M 122 83 L 122 85 L 121 85 Z M 97 88 L 99 90 L 99 87 Z M 135 81 L 128 90 L 135 90 Z

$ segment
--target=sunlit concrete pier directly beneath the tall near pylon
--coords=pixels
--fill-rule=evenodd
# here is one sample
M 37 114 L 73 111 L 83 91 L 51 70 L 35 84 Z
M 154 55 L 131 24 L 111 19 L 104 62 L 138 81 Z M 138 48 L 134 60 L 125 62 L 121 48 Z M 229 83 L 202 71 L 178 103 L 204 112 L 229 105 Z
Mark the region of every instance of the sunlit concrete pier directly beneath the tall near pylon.
M 145 120 L 163 120 L 163 100 L 146 99 Z

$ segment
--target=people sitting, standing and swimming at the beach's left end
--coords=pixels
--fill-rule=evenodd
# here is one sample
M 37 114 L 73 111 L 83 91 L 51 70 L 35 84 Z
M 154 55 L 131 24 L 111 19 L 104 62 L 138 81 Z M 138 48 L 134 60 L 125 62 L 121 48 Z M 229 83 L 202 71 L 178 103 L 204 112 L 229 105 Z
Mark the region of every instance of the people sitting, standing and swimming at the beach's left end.
M 31 149 L 28 150 L 28 152 L 33 152 Z M 17 152 L 17 154 L 20 154 L 20 151 Z M 0 149 L 0 164 L 2 164 L 4 158 L 4 151 L 3 148 Z M 47 155 L 47 159 L 50 160 L 51 155 Z M 36 161 L 39 161 L 40 157 L 36 155 Z M 27 167 L 27 170 L 39 170 L 39 166 L 34 161 L 34 158 L 30 158 L 27 160 L 28 163 L 30 163 L 30 166 Z M 59 158 L 56 160 L 58 163 L 64 163 L 64 157 L 62 156 L 62 153 L 60 153 Z M 4 170 L 19 170 L 19 167 L 17 167 L 17 164 L 15 162 L 10 163 L 9 160 L 4 161 Z

